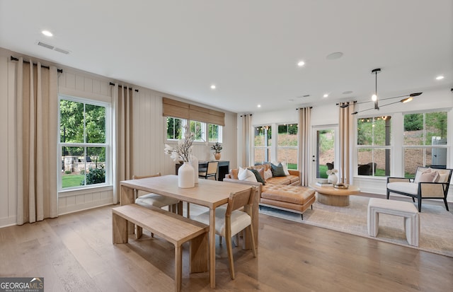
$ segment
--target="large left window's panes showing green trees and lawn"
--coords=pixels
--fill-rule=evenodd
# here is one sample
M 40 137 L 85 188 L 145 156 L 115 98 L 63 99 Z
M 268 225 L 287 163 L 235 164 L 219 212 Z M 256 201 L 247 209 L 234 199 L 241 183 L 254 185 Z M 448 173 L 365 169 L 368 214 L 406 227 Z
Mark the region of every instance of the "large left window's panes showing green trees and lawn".
M 60 189 L 110 182 L 108 123 L 110 107 L 79 98 L 59 100 Z

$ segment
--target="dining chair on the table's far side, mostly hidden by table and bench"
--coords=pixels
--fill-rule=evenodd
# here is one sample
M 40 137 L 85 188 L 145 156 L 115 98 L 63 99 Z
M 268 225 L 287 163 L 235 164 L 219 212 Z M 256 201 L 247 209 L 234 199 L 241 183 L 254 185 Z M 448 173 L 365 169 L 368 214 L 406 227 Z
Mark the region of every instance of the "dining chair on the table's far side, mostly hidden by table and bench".
M 147 177 L 158 177 L 158 176 L 161 176 L 161 173 L 157 173 L 156 175 L 142 175 L 142 176 L 134 175 L 132 176 L 132 180 L 141 180 Z M 160 194 L 153 193 L 143 194 L 142 196 L 139 196 L 139 191 L 137 189 L 135 189 L 134 195 L 135 204 L 137 205 L 144 206 L 145 208 L 148 209 L 150 209 L 151 206 L 157 208 L 163 208 L 165 206 L 168 206 L 168 211 L 183 215 L 183 202 L 178 199 L 161 196 Z M 136 238 L 140 238 L 142 236 L 142 228 L 140 226 L 135 227 L 135 236 Z M 151 237 L 154 237 L 153 233 L 151 233 Z

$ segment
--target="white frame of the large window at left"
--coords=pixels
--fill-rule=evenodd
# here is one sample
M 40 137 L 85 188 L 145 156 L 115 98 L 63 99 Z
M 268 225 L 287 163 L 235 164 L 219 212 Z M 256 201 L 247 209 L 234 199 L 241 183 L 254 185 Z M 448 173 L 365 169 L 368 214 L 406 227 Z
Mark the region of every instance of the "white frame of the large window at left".
M 68 100 L 74 103 L 84 103 L 84 105 L 95 105 L 95 106 L 101 106 L 105 107 L 105 143 L 86 143 L 84 142 L 77 142 L 77 143 L 66 143 L 61 141 L 61 133 L 60 133 L 60 127 L 61 127 L 61 112 L 60 112 L 60 103 L 61 100 Z M 84 106 L 85 108 L 85 106 Z M 112 186 L 113 185 L 113 163 L 112 163 L 112 155 L 113 155 L 113 141 L 112 141 L 112 132 L 113 132 L 113 124 L 112 124 L 112 105 L 111 103 L 101 101 L 101 100 L 94 100 L 90 98 L 82 98 L 79 96 L 74 96 L 74 95 L 66 95 L 66 94 L 58 94 L 58 125 L 57 125 L 57 135 L 58 135 L 58 143 L 57 143 L 57 160 L 59 161 L 57 168 L 58 168 L 58 192 L 59 193 L 64 193 L 64 192 L 69 192 L 69 191 L 74 191 L 74 190 L 83 190 L 83 189 L 92 189 L 96 187 L 106 187 L 106 186 Z M 84 122 L 84 139 L 86 139 L 86 124 Z M 80 185 L 80 186 L 75 186 L 75 187 L 65 187 L 63 188 L 63 183 L 62 183 L 62 174 L 64 173 L 64 161 L 62 161 L 63 158 L 63 153 L 62 153 L 62 148 L 63 147 L 84 147 L 84 148 L 91 148 L 91 147 L 103 147 L 105 148 L 105 182 L 99 183 L 99 184 L 93 184 L 93 185 Z M 86 154 L 84 150 L 84 154 Z M 86 163 L 86 161 L 84 161 Z M 86 180 L 86 177 L 85 177 Z

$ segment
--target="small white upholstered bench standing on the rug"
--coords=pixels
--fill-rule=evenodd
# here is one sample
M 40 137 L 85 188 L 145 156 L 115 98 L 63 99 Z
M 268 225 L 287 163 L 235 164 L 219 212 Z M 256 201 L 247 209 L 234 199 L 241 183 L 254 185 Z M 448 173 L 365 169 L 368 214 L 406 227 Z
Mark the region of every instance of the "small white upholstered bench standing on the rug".
M 409 202 L 371 198 L 368 202 L 368 234 L 377 237 L 379 232 L 379 214 L 389 214 L 404 218 L 406 239 L 413 246 L 418 246 L 420 235 L 420 215 L 417 208 Z

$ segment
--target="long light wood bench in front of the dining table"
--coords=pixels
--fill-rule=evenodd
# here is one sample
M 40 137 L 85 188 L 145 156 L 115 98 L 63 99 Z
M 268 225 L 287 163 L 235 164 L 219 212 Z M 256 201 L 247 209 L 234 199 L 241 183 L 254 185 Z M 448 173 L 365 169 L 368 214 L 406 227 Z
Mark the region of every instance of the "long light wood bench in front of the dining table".
M 134 223 L 175 245 L 175 291 L 182 282 L 182 245 L 190 240 L 190 273 L 208 271 L 209 226 L 159 208 L 127 204 L 112 209 L 113 243 L 127 243 Z

